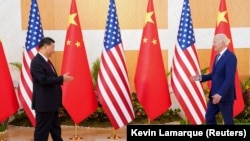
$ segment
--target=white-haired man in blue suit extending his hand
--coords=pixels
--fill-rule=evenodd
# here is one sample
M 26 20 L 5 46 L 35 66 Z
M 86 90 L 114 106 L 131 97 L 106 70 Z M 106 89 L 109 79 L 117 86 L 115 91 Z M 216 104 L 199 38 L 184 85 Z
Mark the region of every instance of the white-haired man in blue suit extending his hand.
M 235 73 L 237 58 L 228 48 L 228 38 L 225 34 L 216 34 L 213 40 L 214 50 L 217 52 L 213 70 L 209 74 L 196 74 L 192 80 L 201 82 L 212 80 L 209 101 L 206 111 L 206 123 L 215 125 L 216 115 L 221 112 L 224 124 L 233 124 L 233 104 L 235 94 Z

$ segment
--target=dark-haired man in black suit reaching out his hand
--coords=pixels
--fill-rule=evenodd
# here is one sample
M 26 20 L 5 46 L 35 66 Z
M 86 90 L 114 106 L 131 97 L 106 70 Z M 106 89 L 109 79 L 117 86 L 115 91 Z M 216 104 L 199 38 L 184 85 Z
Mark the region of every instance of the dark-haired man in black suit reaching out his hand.
M 68 73 L 57 76 L 49 61 L 55 52 L 55 41 L 45 37 L 39 43 L 39 51 L 31 61 L 33 82 L 32 108 L 36 112 L 34 141 L 47 141 L 49 133 L 53 141 L 62 141 L 58 110 L 62 106 L 63 82 L 73 80 Z

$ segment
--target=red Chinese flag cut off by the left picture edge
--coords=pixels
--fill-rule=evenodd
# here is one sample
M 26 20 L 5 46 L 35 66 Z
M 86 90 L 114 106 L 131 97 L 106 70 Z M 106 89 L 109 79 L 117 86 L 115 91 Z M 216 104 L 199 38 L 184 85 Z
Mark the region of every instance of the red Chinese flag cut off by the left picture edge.
M 3 45 L 0 40 L 0 123 L 14 114 L 18 108 L 18 101 L 11 79 L 9 67 L 4 55 Z

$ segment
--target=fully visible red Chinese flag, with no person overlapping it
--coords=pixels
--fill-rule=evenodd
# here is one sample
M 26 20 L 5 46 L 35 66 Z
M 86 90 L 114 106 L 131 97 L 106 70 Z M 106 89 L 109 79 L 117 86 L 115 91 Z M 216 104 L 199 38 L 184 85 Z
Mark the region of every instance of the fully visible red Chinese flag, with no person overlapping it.
M 134 82 L 137 98 L 150 120 L 171 106 L 157 30 L 153 0 L 149 0 Z

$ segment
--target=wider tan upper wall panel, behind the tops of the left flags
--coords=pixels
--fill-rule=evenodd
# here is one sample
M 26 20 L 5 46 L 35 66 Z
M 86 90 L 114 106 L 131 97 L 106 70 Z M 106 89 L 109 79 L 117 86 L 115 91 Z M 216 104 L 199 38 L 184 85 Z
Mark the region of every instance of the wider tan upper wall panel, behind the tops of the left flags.
M 67 29 L 71 0 L 37 0 L 45 30 Z M 109 0 L 76 0 L 83 29 L 104 29 Z M 30 0 L 22 0 L 22 28 L 27 28 Z M 154 1 L 159 28 L 167 28 L 167 1 Z M 117 14 L 122 29 L 141 29 L 146 14 L 146 0 L 117 0 Z

